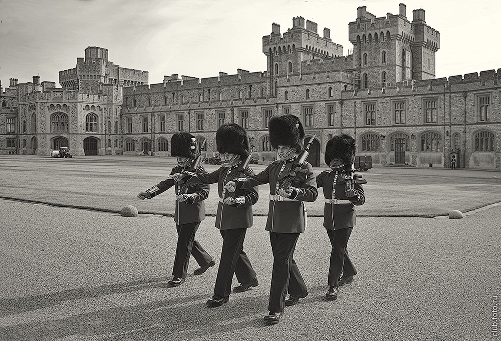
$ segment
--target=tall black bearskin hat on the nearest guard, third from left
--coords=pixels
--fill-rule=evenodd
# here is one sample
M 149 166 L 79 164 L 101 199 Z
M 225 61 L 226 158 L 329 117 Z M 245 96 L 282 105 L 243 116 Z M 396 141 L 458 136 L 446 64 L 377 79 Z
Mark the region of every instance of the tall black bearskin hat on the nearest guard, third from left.
M 273 148 L 291 146 L 298 152 L 304 149 L 305 129 L 299 117 L 294 115 L 273 116 L 268 124 L 270 143 Z

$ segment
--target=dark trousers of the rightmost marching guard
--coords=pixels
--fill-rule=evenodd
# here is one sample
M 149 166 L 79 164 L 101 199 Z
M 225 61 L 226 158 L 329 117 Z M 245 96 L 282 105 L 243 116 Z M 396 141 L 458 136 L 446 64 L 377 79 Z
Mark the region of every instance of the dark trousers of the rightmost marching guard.
M 327 235 L 331 241 L 332 251 L 329 265 L 329 277 L 327 284 L 339 286 L 339 277 L 341 273 L 345 276 L 357 274 L 357 269 L 348 257 L 348 239 L 350 239 L 353 227 L 343 228 L 341 230 L 327 230 Z

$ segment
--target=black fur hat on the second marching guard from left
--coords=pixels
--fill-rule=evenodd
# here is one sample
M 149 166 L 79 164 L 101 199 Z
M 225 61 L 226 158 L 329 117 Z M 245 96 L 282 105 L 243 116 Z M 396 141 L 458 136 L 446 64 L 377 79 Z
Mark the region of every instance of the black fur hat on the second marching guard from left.
M 245 129 L 236 123 L 227 123 L 217 129 L 217 151 L 219 153 L 238 154 L 246 159 L 250 153 L 250 144 Z

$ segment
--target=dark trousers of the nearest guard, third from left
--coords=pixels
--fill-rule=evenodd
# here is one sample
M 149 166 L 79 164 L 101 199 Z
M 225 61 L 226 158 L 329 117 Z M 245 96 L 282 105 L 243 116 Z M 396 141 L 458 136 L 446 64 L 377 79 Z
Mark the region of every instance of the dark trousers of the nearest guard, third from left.
M 268 310 L 284 311 L 287 291 L 291 295 L 308 291 L 305 281 L 294 261 L 294 250 L 299 233 L 270 232 L 270 243 L 273 252 L 272 285 Z

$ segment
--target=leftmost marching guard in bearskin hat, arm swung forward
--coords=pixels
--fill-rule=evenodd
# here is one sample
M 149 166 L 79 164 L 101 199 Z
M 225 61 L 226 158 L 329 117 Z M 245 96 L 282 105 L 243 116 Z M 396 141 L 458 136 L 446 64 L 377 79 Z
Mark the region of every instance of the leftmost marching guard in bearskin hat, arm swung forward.
M 199 158 L 197 152 L 196 139 L 193 135 L 181 132 L 176 133 L 171 139 L 171 155 L 177 157 L 178 165 L 172 168 L 170 175 L 164 181 L 153 186 L 146 191 L 140 192 L 137 197 L 141 200 L 151 199 L 170 187 L 174 186 L 176 192 L 176 207 L 174 221 L 177 229 L 177 247 L 174 259 L 174 269 L 172 278 L 168 283 L 172 286 L 181 285 L 188 270 L 190 254 L 197 261 L 199 268 L 194 274 L 202 274 L 209 267 L 214 266 L 212 257 L 203 249 L 198 241 L 195 240 L 195 233 L 200 222 L 205 218 L 205 205 L 203 200 L 209 195 L 208 185 L 181 186 L 174 181 L 173 175 L 189 169 L 196 164 L 195 159 Z M 197 172 L 204 173 L 203 167 L 198 166 Z M 181 187 L 183 189 L 181 190 Z M 182 193 L 185 192 L 185 193 Z

